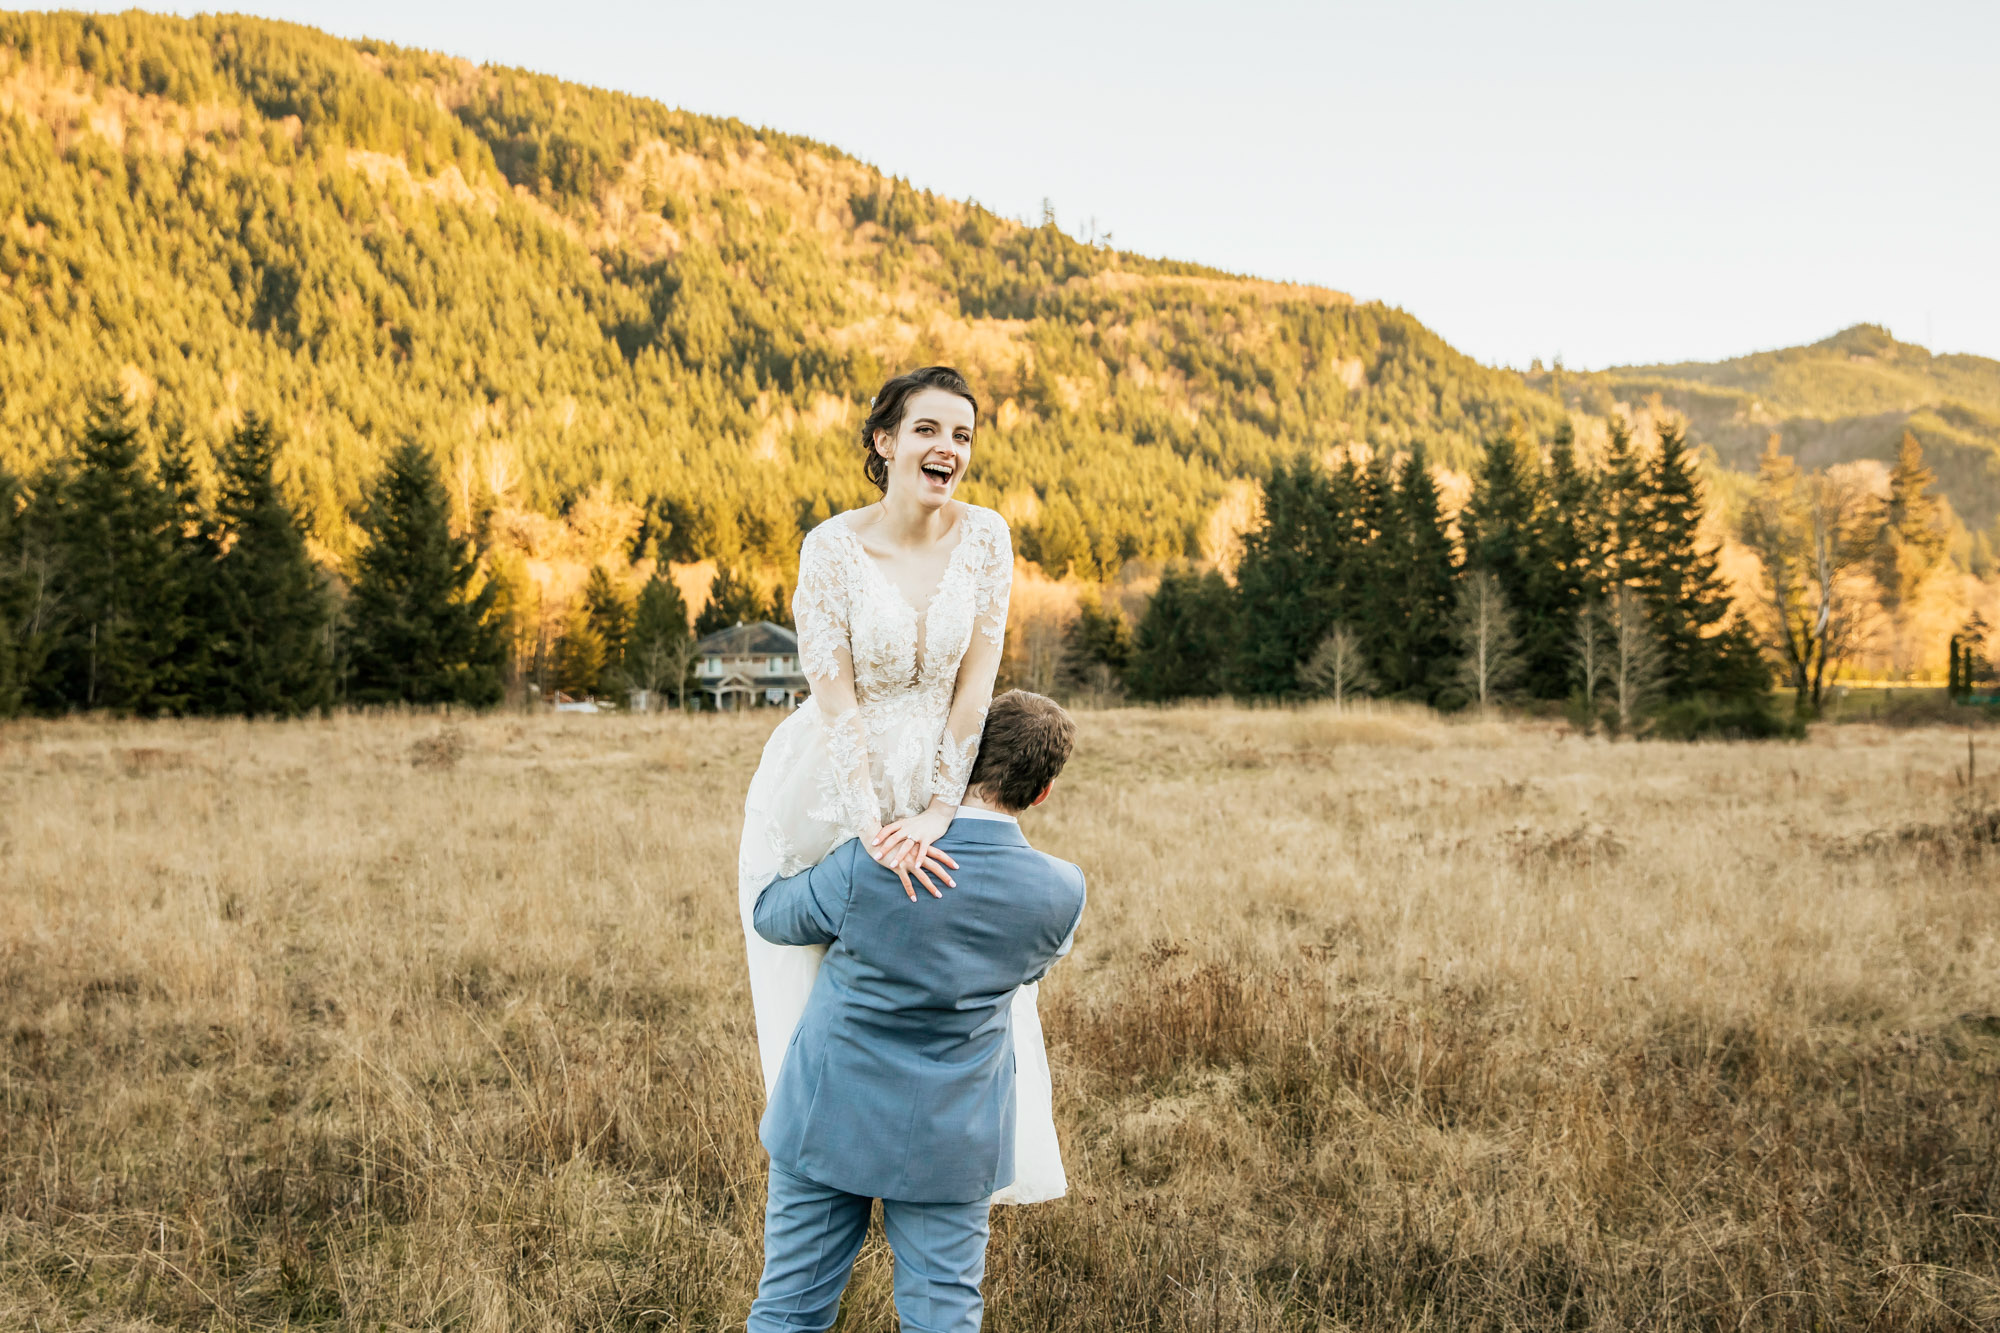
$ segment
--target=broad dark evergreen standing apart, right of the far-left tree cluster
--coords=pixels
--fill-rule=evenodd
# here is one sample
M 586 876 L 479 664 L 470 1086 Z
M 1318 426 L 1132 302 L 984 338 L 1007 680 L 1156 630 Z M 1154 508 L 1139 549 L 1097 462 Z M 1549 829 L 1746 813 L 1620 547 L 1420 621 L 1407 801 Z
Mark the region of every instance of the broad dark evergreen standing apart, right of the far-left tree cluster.
M 474 590 L 478 560 L 452 536 L 450 496 L 422 444 L 394 448 L 376 478 L 354 560 L 348 697 L 364 705 L 494 705 L 506 662 L 488 618 L 494 586 Z

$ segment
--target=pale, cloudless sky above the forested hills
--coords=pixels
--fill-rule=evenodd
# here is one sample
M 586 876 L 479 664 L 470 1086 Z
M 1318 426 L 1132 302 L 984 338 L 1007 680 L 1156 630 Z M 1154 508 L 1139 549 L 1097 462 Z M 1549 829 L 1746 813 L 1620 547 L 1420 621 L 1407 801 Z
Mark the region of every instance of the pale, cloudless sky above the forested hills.
M 1486 362 L 1888 324 L 2000 356 L 2000 2 L 620 4 L 256 12 L 806 134 Z

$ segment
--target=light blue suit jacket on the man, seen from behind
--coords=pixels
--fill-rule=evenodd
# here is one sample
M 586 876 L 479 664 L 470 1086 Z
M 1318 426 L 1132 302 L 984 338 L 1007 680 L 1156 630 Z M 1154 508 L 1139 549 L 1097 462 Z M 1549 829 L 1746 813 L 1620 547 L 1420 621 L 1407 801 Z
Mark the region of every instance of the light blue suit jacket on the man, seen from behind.
M 760 1137 L 850 1195 L 972 1203 L 1014 1181 L 1010 1005 L 1084 915 L 1084 873 L 1020 825 L 958 819 L 938 847 L 958 861 L 942 899 L 912 903 L 856 839 L 756 901 L 774 945 L 830 945 Z

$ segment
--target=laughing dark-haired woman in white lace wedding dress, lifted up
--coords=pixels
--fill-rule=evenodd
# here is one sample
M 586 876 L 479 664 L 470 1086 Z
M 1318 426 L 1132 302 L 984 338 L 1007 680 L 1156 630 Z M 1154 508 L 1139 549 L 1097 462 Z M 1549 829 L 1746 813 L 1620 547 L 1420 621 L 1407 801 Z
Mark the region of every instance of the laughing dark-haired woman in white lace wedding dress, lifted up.
M 764 941 L 750 913 L 764 885 L 816 865 L 850 837 L 936 895 L 932 849 L 958 813 L 992 703 L 1006 632 L 1014 548 L 1006 520 L 954 500 L 972 462 L 978 402 L 964 376 L 926 366 L 882 386 L 862 422 L 874 504 L 836 514 L 798 552 L 798 662 L 812 697 L 784 719 L 744 801 L 736 863 L 750 951 L 764 1091 L 806 1011 L 824 947 Z M 994 1203 L 1038 1203 L 1068 1189 L 1050 1109 L 1036 987 L 1014 995 L 1014 1183 Z

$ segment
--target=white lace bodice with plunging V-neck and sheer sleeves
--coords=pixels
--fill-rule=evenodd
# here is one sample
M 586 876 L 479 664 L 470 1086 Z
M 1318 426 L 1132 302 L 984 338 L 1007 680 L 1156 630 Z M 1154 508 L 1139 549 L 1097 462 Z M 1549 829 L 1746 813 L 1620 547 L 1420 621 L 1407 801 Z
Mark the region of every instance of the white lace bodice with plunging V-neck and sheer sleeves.
M 798 552 L 798 662 L 830 757 L 814 815 L 862 833 L 872 821 L 958 805 L 992 703 L 1014 548 L 1006 520 L 966 504 L 958 544 L 922 610 L 836 514 Z

